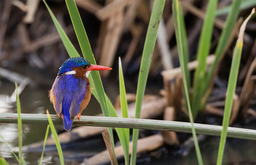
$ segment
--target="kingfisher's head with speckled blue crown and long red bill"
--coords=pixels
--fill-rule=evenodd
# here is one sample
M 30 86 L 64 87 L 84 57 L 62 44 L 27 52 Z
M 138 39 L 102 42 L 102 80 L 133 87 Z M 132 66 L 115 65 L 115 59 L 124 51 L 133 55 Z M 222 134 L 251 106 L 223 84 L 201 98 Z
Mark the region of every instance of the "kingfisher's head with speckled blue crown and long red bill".
M 111 70 L 106 66 L 93 65 L 83 57 L 72 57 L 67 59 L 59 68 L 58 75 L 74 75 L 78 78 L 88 78 L 92 70 Z

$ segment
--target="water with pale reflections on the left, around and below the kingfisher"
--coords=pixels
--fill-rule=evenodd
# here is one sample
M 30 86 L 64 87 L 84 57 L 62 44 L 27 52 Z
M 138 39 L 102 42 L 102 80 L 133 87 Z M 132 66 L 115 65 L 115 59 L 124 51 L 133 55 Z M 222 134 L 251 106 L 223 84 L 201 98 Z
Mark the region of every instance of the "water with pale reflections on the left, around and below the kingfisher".
M 56 114 L 50 100 L 48 98 L 49 88 L 35 88 L 27 86 L 20 95 L 20 104 L 22 113 L 45 114 L 46 109 L 50 114 Z M 8 96 L 15 90 L 15 84 L 1 79 L 0 86 L 0 113 L 17 113 L 16 103 L 9 103 Z M 86 110 L 82 115 L 95 115 L 101 113 L 100 105 L 94 97 L 91 98 Z M 18 143 L 18 127 L 17 124 L 1 124 L 0 135 L 7 141 L 11 148 L 19 146 Z M 63 126 L 56 125 L 56 130 L 63 132 Z M 42 141 L 45 138 L 46 125 L 22 125 L 22 145 L 32 144 Z M 49 134 L 51 132 L 49 131 Z M 92 147 L 92 145 L 94 147 Z M 92 156 L 104 150 L 105 144 L 102 138 L 88 139 L 87 141 L 62 144 L 65 164 L 72 164 L 74 161 L 82 161 L 85 157 Z M 35 152 L 23 153 L 23 157 L 27 164 L 38 164 L 43 148 L 37 148 Z M 9 164 L 17 164 L 16 158 L 10 152 L 5 143 L 0 140 L 0 153 L 6 158 Z M 16 153 L 18 155 L 18 153 Z M 45 154 L 42 164 L 59 164 L 59 156 L 56 146 L 48 146 L 45 148 Z

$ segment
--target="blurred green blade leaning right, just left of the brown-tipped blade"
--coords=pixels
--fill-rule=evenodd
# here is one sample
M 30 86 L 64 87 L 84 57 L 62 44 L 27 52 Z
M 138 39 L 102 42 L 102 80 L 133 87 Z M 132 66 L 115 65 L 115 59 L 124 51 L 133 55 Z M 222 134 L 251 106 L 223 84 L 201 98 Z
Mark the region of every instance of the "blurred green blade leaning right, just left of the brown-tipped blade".
M 213 64 L 210 67 L 210 71 L 208 72 L 206 76 L 206 83 L 204 84 L 202 88 L 202 93 L 206 92 L 206 89 L 209 88 L 209 84 L 211 80 L 214 78 L 214 73 L 217 70 L 217 66 L 221 59 L 223 59 L 224 51 L 226 49 L 226 46 L 228 44 L 229 36 L 231 34 L 232 29 L 234 28 L 234 25 L 236 23 L 238 14 L 239 14 L 239 6 L 241 4 L 241 0 L 233 0 L 231 4 L 231 11 L 228 13 L 228 16 L 226 18 L 226 22 L 224 25 L 224 28 L 221 32 L 221 37 L 219 39 L 219 42 L 217 44 L 217 48 L 215 50 L 215 60 Z M 212 87 L 210 87 L 212 88 Z M 206 96 L 208 97 L 208 96 Z M 206 102 L 207 99 L 204 100 Z M 202 103 L 202 105 L 205 105 L 205 103 Z

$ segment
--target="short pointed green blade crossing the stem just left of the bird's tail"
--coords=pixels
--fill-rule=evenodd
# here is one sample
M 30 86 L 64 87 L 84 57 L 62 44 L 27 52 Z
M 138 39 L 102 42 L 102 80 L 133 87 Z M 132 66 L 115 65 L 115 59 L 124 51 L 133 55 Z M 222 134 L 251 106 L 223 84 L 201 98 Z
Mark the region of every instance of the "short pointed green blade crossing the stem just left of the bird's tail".
M 52 119 L 51 119 L 51 116 L 50 116 L 48 110 L 46 110 L 46 114 L 47 114 L 47 117 L 48 117 L 48 122 L 49 122 L 49 125 L 50 125 L 50 128 L 51 128 L 51 131 L 52 131 L 52 135 L 53 135 L 53 138 L 54 138 L 54 141 L 55 141 L 55 145 L 56 145 L 56 148 L 58 150 L 60 164 L 64 165 L 64 157 L 63 157 L 63 152 L 62 152 L 62 149 L 61 149 L 61 145 L 59 143 L 58 134 L 56 132 L 56 129 L 54 127 L 54 124 L 52 122 Z

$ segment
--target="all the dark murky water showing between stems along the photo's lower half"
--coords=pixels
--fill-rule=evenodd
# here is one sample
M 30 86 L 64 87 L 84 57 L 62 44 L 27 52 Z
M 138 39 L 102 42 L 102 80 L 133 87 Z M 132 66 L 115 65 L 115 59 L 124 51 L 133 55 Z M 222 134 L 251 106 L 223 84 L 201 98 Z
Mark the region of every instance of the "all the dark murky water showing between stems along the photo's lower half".
M 115 81 L 115 80 L 112 80 Z M 115 83 L 108 83 L 115 84 Z M 8 103 L 7 96 L 10 96 L 15 89 L 15 85 L 7 80 L 1 80 L 0 86 L 0 112 L 16 113 L 16 103 Z M 47 91 L 50 87 L 32 87 L 27 86 L 20 95 L 20 103 L 22 113 L 45 114 L 45 110 L 49 109 L 50 114 L 55 114 L 55 111 L 48 99 Z M 113 101 L 118 95 L 119 90 L 115 86 L 108 86 L 106 88 L 109 97 Z M 135 89 L 135 87 L 134 87 Z M 152 91 L 151 91 L 152 92 Z M 152 92 L 153 93 L 153 92 Z M 101 113 L 100 105 L 96 99 L 92 97 L 88 107 L 83 111 L 82 115 L 95 115 Z M 255 127 L 255 125 L 254 125 Z M 58 132 L 63 131 L 62 126 L 56 126 Z M 32 144 L 41 141 L 45 137 L 46 125 L 22 125 L 23 145 Z M 0 135 L 6 139 L 11 148 L 18 147 L 18 128 L 17 124 L 1 124 Z M 208 137 L 205 141 L 200 143 L 200 149 L 204 164 L 211 165 L 216 163 L 217 152 L 219 146 L 219 138 Z M 94 138 L 76 141 L 74 143 L 63 144 L 63 155 L 65 164 L 73 165 L 79 164 L 84 158 L 93 156 L 94 154 L 105 150 L 105 144 L 101 136 Z M 42 148 L 38 148 L 34 152 L 24 153 L 24 159 L 27 164 L 38 164 L 41 157 Z M 168 147 L 164 146 L 155 151 L 139 154 L 140 158 L 137 164 L 143 165 L 160 165 L 160 164 L 174 164 L 174 165 L 196 165 L 197 156 L 195 150 L 192 149 L 187 153 L 186 148 Z M 0 153 L 7 160 L 9 164 L 17 164 L 17 160 L 11 154 L 6 145 L 0 141 Z M 18 155 L 18 153 L 17 153 Z M 256 164 L 256 142 L 241 139 L 227 139 L 224 164 Z M 122 160 L 121 164 L 124 164 Z M 55 146 L 49 146 L 45 149 L 43 164 L 58 165 L 59 157 Z

